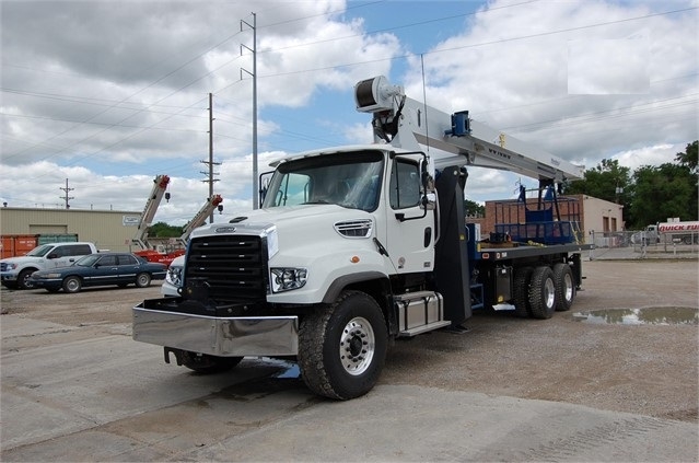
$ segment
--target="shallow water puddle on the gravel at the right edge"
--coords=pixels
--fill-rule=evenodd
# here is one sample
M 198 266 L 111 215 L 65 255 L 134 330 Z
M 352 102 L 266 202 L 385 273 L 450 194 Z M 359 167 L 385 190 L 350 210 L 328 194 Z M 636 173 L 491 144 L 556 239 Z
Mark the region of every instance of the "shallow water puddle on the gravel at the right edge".
M 573 320 L 610 325 L 699 325 L 699 309 L 609 309 L 573 313 Z

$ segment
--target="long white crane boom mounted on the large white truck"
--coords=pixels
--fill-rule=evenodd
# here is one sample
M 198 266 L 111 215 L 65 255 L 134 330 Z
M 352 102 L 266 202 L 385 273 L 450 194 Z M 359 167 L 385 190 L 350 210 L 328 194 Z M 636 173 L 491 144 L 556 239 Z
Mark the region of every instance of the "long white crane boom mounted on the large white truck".
M 409 99 L 403 86 L 389 84 L 383 76 L 359 82 L 354 99 L 358 111 L 374 116 L 375 141 L 410 150 L 428 147 L 436 169 L 474 165 L 552 182 L 583 176 L 584 166 L 471 120 L 468 112 L 450 115 Z

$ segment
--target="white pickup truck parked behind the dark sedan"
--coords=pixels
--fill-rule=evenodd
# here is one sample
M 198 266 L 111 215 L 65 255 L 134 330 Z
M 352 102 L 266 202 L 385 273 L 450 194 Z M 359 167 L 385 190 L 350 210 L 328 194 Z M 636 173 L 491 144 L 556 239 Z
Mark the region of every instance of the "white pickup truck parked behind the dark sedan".
M 0 261 L 0 281 L 10 289 L 31 288 L 28 280 L 34 271 L 68 267 L 80 257 L 96 252 L 96 246 L 86 242 L 42 244 L 24 256 Z

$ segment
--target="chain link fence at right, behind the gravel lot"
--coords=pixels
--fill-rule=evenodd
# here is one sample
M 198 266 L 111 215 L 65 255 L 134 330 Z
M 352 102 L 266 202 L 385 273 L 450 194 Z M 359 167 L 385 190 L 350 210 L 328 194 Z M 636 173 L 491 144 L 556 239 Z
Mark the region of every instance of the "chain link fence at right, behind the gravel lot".
M 699 258 L 699 233 L 591 232 L 590 259 Z

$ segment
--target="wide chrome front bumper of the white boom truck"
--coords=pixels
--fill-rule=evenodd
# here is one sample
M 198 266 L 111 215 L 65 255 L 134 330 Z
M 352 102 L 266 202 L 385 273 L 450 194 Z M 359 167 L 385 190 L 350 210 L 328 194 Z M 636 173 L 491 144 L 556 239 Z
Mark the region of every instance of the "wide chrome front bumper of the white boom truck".
M 296 316 L 214 317 L 132 309 L 133 339 L 219 357 L 295 356 Z

